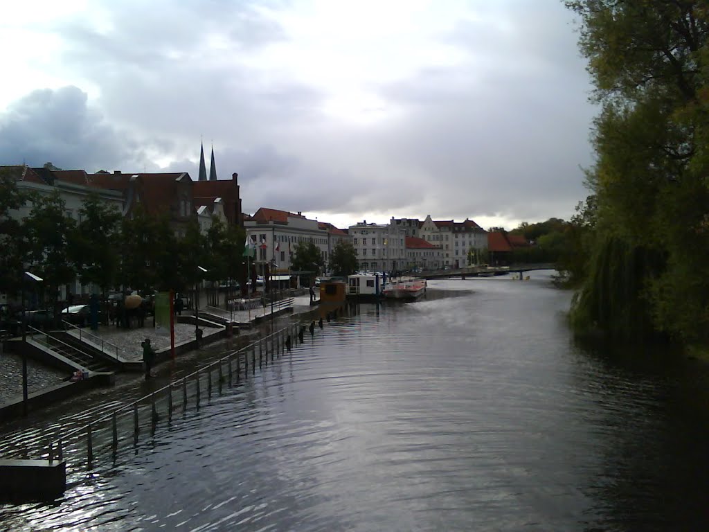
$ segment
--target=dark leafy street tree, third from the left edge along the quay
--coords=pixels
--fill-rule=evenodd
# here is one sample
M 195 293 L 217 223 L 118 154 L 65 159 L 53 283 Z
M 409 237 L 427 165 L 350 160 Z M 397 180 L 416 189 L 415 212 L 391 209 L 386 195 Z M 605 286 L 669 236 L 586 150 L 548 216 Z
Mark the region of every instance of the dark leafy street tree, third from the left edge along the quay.
M 96 284 L 106 291 L 116 284 L 121 212 L 108 206 L 98 194 L 86 197 L 79 209 L 81 221 L 72 240 L 72 255 L 82 284 Z

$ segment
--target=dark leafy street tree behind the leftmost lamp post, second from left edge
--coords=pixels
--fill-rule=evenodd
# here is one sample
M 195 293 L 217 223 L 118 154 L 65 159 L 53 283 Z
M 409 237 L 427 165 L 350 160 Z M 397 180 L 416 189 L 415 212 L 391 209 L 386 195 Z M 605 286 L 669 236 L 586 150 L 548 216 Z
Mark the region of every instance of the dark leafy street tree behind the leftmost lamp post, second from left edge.
M 58 309 L 59 288 L 72 282 L 76 268 L 69 253 L 75 229 L 74 219 L 66 214 L 58 192 L 34 196 L 32 209 L 24 221 L 30 272 L 43 278 L 42 287 Z M 58 312 L 56 313 L 58 314 Z

